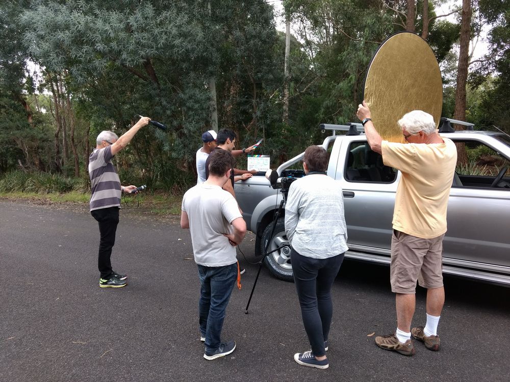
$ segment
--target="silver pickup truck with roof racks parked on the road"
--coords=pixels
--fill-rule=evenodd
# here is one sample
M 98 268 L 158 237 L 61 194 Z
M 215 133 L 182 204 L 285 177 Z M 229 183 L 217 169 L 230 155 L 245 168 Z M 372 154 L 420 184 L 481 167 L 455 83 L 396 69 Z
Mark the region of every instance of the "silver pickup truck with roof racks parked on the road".
M 442 120 L 441 135 L 461 144 L 457 147 L 466 150 L 469 160 L 457 166 L 450 190 L 443 272 L 510 286 L 510 138 L 491 131 L 453 132 L 452 120 Z M 333 131 L 322 146 L 330 153 L 327 175 L 342 184 L 349 247 L 345 257 L 389 264 L 401 174 L 385 166 L 381 155 L 370 149 L 361 125 L 321 127 Z M 349 132 L 336 135 L 337 130 Z M 297 155 L 276 171 L 282 177 L 304 176 L 302 170 L 291 169 L 300 167 L 295 163 L 302 157 L 303 153 Z M 256 254 L 263 256 L 266 245 L 268 252 L 276 250 L 265 258 L 266 266 L 277 278 L 292 281 L 283 216 L 270 237 L 282 193 L 271 187 L 263 173 L 237 182 L 235 192 L 248 230 L 256 233 Z

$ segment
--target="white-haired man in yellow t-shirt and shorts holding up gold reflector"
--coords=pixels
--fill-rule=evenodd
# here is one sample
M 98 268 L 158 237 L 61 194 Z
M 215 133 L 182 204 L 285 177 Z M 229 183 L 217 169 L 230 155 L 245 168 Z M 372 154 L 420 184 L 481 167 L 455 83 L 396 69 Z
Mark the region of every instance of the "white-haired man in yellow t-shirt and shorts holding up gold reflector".
M 391 288 L 396 293 L 397 330 L 375 338 L 377 346 L 405 356 L 415 353 L 411 335 L 437 351 L 437 328 L 443 309 L 442 254 L 446 209 L 455 173 L 455 144 L 442 138 L 430 114 L 415 110 L 398 125 L 407 143 L 383 141 L 365 103 L 358 107 L 371 149 L 382 154 L 385 165 L 402 176 L 395 196 L 391 243 Z M 411 330 L 416 306 L 416 282 L 427 289 L 426 325 Z

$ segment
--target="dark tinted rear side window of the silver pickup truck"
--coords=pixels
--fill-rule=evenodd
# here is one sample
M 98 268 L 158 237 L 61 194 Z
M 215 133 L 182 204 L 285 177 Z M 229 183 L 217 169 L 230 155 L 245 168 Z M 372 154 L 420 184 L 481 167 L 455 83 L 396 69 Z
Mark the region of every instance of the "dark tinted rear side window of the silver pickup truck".
M 382 156 L 366 142 L 352 142 L 345 166 L 345 179 L 351 182 L 391 183 L 397 171 L 382 163 Z

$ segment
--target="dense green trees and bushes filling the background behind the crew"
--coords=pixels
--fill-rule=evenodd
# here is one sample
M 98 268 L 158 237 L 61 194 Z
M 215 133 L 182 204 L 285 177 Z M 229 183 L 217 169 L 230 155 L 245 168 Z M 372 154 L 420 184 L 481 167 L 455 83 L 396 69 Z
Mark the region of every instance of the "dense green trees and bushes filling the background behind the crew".
M 510 131 L 508 1 L 476 3 L 479 17 L 473 18 L 472 30 L 483 22 L 492 25 L 490 54 L 470 66 L 474 71 L 467 119 L 480 128 L 494 124 Z M 451 117 L 457 70 L 452 46 L 459 25 L 434 18 L 439 3 L 444 1 L 428 3 L 427 42 L 443 71 L 443 115 Z M 320 123 L 356 121 L 370 59 L 382 41 L 404 29 L 406 2 L 283 4 L 295 31 L 286 121 L 285 34 L 275 30 L 268 2 L 0 3 L 0 174 L 19 168 L 74 174 L 75 148 L 85 176 L 86 155 L 97 134 L 113 130 L 121 135 L 140 114 L 165 123 L 169 130 L 147 126 L 116 155 L 121 180 L 179 194 L 195 182 L 200 134 L 211 128 L 211 78 L 216 83 L 219 128 L 234 129 L 239 148 L 264 138 L 258 153 L 271 155 L 277 166 L 322 142 Z M 422 6 L 419 0 L 418 32 Z M 39 75 L 27 72 L 32 65 L 27 60 L 43 68 Z M 240 167 L 245 166 L 243 160 Z M 84 181 L 79 187 L 86 189 Z M 29 186 L 44 190 L 45 183 L 51 185 L 46 188 L 60 187 L 57 179 Z

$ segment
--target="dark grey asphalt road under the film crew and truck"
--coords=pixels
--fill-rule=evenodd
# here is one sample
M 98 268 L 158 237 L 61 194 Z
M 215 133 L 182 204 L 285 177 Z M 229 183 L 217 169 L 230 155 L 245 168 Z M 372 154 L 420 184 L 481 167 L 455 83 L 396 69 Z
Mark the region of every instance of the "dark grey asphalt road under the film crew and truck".
M 101 289 L 98 228 L 86 207 L 0 200 L 0 381 L 505 381 L 510 380 L 510 288 L 445 278 L 441 351 L 416 343 L 404 357 L 379 349 L 395 330 L 389 268 L 346 260 L 333 288 L 329 369 L 299 366 L 309 349 L 292 283 L 247 269 L 223 328 L 231 356 L 206 361 L 189 231 L 176 219 L 123 209 L 112 255 L 129 285 Z M 414 324 L 424 324 L 424 291 Z

